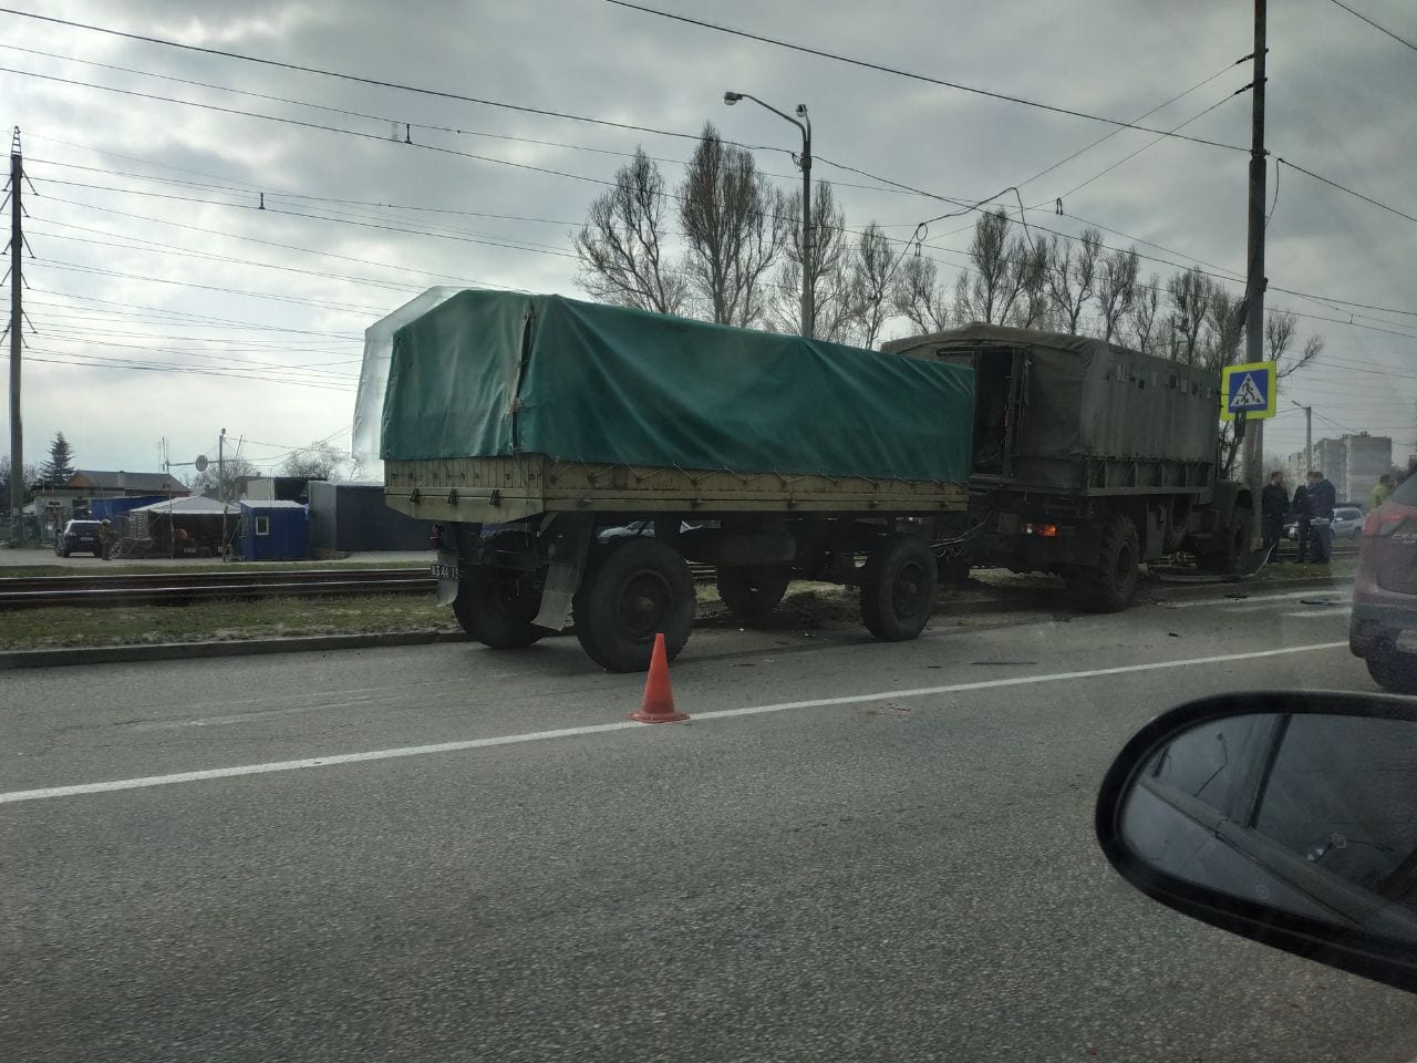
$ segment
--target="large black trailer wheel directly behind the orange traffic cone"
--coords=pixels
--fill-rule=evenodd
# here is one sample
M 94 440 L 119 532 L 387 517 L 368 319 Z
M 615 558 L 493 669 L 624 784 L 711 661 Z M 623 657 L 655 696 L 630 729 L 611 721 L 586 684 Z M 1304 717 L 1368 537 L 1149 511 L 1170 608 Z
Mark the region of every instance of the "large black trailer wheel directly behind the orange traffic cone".
M 622 539 L 591 560 L 572 617 L 581 648 L 608 672 L 648 669 L 660 632 L 673 660 L 694 622 L 689 564 L 655 539 Z

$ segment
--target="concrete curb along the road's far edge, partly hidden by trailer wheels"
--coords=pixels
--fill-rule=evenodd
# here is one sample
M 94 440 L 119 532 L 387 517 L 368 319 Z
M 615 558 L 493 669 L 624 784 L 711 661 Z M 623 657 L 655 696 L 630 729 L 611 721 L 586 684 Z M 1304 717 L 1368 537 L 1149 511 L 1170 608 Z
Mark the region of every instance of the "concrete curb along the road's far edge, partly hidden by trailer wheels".
M 1226 591 L 1234 594 L 1236 600 L 1250 595 L 1240 591 L 1241 587 L 1254 588 L 1253 583 L 1206 583 L 1206 584 L 1161 584 L 1156 587 L 1138 588 L 1138 597 L 1145 595 L 1146 604 L 1163 604 L 1169 598 L 1189 598 L 1206 592 Z M 1352 577 L 1315 577 L 1312 580 L 1275 580 L 1267 585 L 1282 585 L 1295 591 L 1333 590 L 1343 584 L 1352 584 Z M 1061 592 L 1060 592 L 1061 594 Z M 1020 595 L 1022 597 L 1022 595 Z M 1050 607 L 1053 602 L 1039 602 Z M 981 597 L 959 598 L 942 602 L 941 614 L 951 614 L 959 608 L 971 614 L 1016 612 L 1030 608 L 1027 602 L 1020 602 L 1009 597 Z M 724 618 L 707 617 L 694 622 L 694 626 L 726 626 Z M 570 632 L 570 629 L 567 629 Z M 428 646 L 438 642 L 470 642 L 468 635 L 456 631 L 397 631 L 383 635 L 312 635 L 273 639 L 232 639 L 230 642 L 159 642 L 145 646 L 72 646 L 62 649 L 11 649 L 0 651 L 0 672 L 21 668 L 61 668 L 64 665 L 119 665 L 145 660 L 180 660 L 188 658 L 237 658 L 255 656 L 264 653 L 317 653 L 333 649 L 376 649 L 384 646 Z

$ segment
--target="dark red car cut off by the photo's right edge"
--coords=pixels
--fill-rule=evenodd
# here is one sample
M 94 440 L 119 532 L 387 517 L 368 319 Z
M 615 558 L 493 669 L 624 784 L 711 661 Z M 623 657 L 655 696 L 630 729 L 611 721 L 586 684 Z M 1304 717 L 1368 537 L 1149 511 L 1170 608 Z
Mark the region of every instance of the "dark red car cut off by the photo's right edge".
M 1384 690 L 1417 694 L 1417 475 L 1367 514 L 1348 645 Z

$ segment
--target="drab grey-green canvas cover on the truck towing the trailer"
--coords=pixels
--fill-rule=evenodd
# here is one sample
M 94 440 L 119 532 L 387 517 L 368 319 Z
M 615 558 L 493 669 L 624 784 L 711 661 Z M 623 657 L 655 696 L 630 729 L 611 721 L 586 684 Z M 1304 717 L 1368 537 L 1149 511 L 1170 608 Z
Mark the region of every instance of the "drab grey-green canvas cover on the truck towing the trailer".
M 1219 374 L 1088 336 L 969 325 L 894 340 L 915 359 L 968 360 L 973 351 L 1027 357 L 1013 442 L 1019 479 L 1078 488 L 1081 466 L 1104 462 L 1213 465 Z

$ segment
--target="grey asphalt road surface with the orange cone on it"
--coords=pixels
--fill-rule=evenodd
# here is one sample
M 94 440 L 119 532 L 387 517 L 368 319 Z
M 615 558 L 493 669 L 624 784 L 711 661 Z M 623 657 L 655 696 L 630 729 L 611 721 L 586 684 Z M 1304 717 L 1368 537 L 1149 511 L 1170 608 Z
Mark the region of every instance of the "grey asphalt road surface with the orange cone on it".
M 1158 710 L 1373 689 L 1289 595 L 699 631 L 660 727 L 574 639 L 7 675 L 0 1054 L 1406 1063 L 1417 998 L 1093 840 Z

